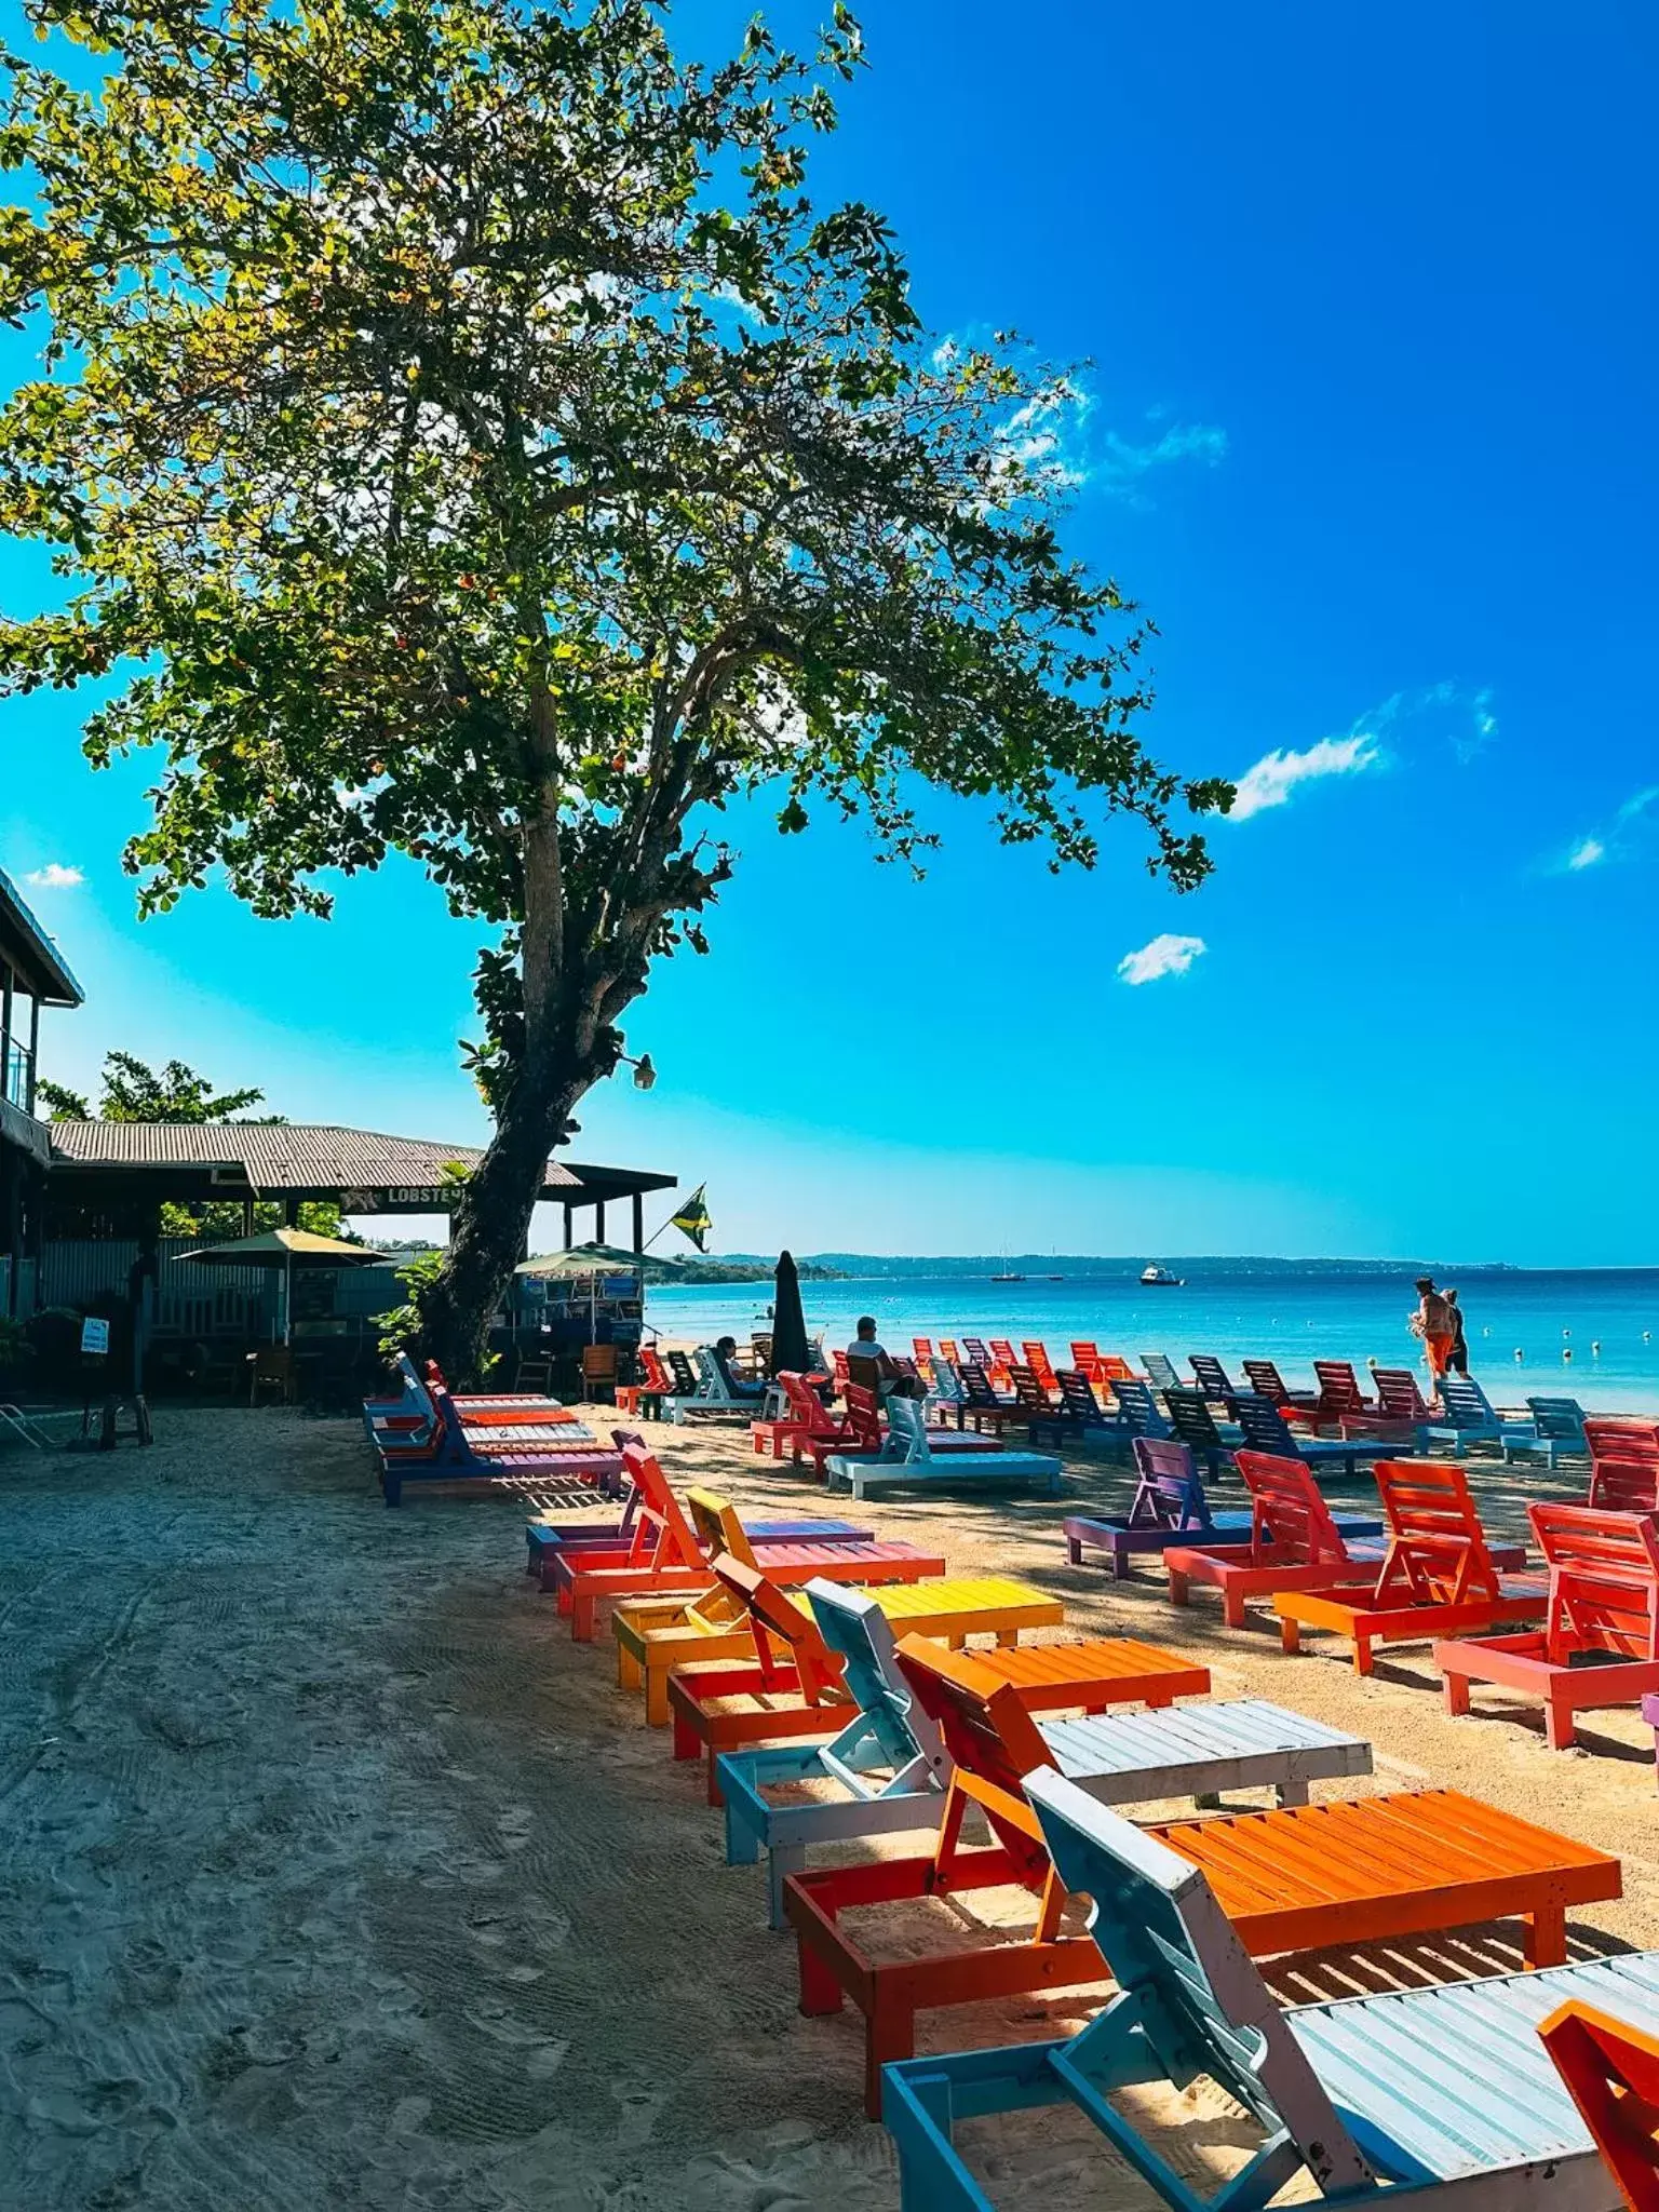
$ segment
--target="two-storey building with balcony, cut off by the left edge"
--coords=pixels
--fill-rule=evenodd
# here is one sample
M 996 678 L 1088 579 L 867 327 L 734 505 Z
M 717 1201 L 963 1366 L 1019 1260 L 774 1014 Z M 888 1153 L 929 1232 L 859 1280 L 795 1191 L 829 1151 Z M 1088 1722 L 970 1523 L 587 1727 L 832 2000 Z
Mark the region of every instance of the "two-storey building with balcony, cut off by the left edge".
M 35 1310 L 46 1234 L 51 1135 L 35 1115 L 40 1009 L 80 1006 L 82 987 L 0 869 L 0 1318 Z

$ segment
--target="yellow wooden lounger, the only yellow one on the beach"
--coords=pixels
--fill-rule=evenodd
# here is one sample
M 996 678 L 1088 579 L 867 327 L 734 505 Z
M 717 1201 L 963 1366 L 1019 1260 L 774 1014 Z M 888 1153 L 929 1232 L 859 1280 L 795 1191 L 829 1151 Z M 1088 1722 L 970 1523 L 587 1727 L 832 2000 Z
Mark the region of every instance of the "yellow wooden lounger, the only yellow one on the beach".
M 772 1584 L 770 1555 L 750 1551 L 741 1528 L 732 1533 L 730 1562 Z M 712 1571 L 710 1571 L 712 1573 Z M 741 1579 L 741 1577 L 739 1577 Z M 825 1584 L 827 1586 L 827 1584 Z M 1004 1575 L 947 1575 L 914 1584 L 891 1584 L 867 1593 L 900 1632 L 964 1644 L 995 1637 L 1018 1644 L 1033 1628 L 1060 1628 L 1066 1608 L 1057 1597 Z M 803 1615 L 807 1599 L 785 1593 Z M 726 1575 L 695 1597 L 633 1599 L 611 1619 L 617 1644 L 617 1686 L 646 1692 L 646 1721 L 664 1728 L 670 1719 L 668 1677 L 677 1666 L 708 1666 L 714 1659 L 748 1659 L 754 1626 L 743 1588 Z

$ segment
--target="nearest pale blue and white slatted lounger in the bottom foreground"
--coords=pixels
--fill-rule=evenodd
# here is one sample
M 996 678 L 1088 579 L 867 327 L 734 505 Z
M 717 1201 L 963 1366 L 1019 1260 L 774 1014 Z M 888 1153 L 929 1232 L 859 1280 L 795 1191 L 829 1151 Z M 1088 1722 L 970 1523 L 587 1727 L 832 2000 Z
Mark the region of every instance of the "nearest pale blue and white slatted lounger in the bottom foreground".
M 1053 2104 L 1082 2112 L 1117 2154 L 1104 2188 L 1124 2161 L 1172 2212 L 1254 2212 L 1303 2174 L 1343 2212 L 1615 2212 L 1617 2188 L 1537 2026 L 1582 1997 L 1652 2033 L 1659 1955 L 1281 2011 L 1203 1867 L 1055 1772 L 1024 1787 L 1060 1880 L 1095 1900 L 1091 1933 L 1117 1993 L 1077 2035 L 887 2068 L 902 2212 L 1011 2201 L 1015 2130 L 1000 2128 L 982 2163 L 984 2130 L 956 2141 L 956 2128 Z M 1201 2152 L 1172 2163 L 1135 2104 L 1115 2101 L 1197 2077 L 1263 2130 L 1261 2150 L 1214 2194 L 1190 2179 L 1208 2163 Z M 1194 2124 L 1199 2141 L 1208 2132 Z M 1022 2201 L 1060 2199 L 1037 2183 Z

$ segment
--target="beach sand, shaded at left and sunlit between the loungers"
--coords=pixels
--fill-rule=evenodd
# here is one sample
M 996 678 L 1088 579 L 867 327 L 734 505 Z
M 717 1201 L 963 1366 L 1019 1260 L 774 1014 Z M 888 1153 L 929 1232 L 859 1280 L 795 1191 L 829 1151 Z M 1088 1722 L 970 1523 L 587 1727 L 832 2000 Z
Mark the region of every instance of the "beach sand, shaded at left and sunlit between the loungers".
M 701 1774 L 522 1573 L 509 1502 L 385 1513 L 361 1433 L 164 1411 L 153 1451 L 0 1458 L 0 2205 L 27 2212 L 896 2212 L 860 2115 L 860 2022 L 796 2013 L 757 1869 Z M 732 1431 L 655 1431 L 677 1478 L 810 1509 Z M 1124 1478 L 1073 1462 L 1066 1506 Z M 1480 1471 L 1495 1528 L 1582 1478 Z M 1575 1955 L 1659 1944 L 1652 1741 L 1586 1717 L 1447 1721 L 1427 1652 L 1358 1683 L 1314 1650 L 1064 1564 L 1060 1506 L 872 1504 L 889 1535 L 1060 1593 L 1367 1732 L 1371 1785 L 1455 1783 L 1619 1851 Z M 1486 1712 L 1502 1701 L 1482 1697 Z M 914 1913 L 933 1916 L 916 1922 Z M 931 1942 L 942 1907 L 883 1940 Z M 1011 1905 L 1009 1918 L 1018 1920 Z M 1515 1931 L 1272 1969 L 1294 2002 L 1517 1964 Z M 1084 2000 L 942 2013 L 922 2048 L 1066 2028 Z M 1252 2128 L 1210 2088 L 1146 2101 L 1206 2190 Z M 1071 2115 L 973 2132 L 998 2205 L 1141 2212 Z M 1285 2199 L 1292 2201 L 1292 2199 Z

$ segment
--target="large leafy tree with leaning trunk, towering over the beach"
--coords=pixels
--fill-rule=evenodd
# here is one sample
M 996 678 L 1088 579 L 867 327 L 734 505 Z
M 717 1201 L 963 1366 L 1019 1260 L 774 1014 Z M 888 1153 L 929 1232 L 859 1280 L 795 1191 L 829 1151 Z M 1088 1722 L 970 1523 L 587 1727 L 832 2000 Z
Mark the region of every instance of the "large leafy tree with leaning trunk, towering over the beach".
M 1053 509 L 1073 385 L 929 345 L 887 226 L 818 208 L 836 7 L 681 62 L 650 0 L 33 0 L 111 53 L 9 62 L 0 303 L 46 334 L 0 416 L 0 526 L 62 613 L 11 690 L 117 677 L 95 763 L 159 754 L 144 911 L 221 867 L 257 911 L 425 863 L 489 925 L 495 1137 L 425 1303 L 476 1365 L 546 1155 L 655 956 L 703 949 L 719 810 L 929 787 L 1093 865 L 1208 869 L 1228 803 L 1139 745 L 1141 630 Z

